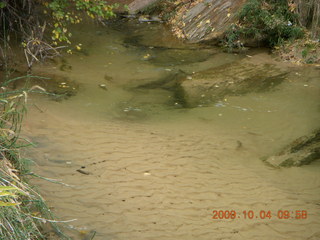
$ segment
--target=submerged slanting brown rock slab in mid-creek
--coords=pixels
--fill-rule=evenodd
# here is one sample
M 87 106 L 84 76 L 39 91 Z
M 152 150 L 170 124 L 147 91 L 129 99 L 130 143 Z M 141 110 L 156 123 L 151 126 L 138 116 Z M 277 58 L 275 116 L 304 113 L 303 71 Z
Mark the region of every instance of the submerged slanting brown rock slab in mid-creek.
M 230 95 L 269 90 L 280 84 L 286 74 L 275 65 L 240 61 L 196 73 L 181 87 L 187 105 L 195 107 Z

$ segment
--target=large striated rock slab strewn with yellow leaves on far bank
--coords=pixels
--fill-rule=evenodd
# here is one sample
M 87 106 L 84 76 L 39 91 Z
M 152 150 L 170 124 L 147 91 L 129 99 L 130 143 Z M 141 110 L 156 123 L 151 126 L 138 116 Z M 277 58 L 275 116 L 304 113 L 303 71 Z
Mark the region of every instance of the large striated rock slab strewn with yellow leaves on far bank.
M 191 42 L 220 39 L 236 12 L 246 0 L 200 0 L 188 2 L 177 9 L 171 25 L 178 37 Z

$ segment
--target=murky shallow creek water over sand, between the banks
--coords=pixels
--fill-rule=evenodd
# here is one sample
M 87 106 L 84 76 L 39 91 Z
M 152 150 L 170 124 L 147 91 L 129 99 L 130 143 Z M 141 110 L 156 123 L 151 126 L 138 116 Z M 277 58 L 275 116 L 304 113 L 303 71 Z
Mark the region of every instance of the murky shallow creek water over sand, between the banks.
M 183 108 L 170 89 L 136 86 L 248 57 L 184 44 L 159 24 L 82 26 L 75 39 L 85 50 L 67 68 L 36 68 L 74 80 L 77 95 L 30 96 L 24 127 L 37 143 L 34 172 L 70 185 L 33 181 L 59 219 L 77 219 L 73 239 L 320 239 L 320 163 L 273 169 L 260 159 L 319 127 L 319 69 L 292 67 L 273 91 Z M 308 216 L 295 219 L 301 210 Z

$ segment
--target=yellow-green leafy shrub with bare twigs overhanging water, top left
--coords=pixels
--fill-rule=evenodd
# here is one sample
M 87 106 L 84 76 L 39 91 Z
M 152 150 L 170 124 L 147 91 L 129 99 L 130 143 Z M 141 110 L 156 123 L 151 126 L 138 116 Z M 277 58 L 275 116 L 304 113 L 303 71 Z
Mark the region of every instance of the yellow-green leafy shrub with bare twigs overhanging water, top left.
M 20 43 L 28 64 L 59 55 L 60 49 L 71 46 L 70 24 L 79 24 L 87 16 L 102 22 L 114 17 L 117 4 L 104 0 L 3 0 L 0 4 L 0 38 L 2 42 Z M 66 46 L 62 46 L 66 45 Z M 80 50 L 81 44 L 73 44 Z M 0 50 L 6 48 L 5 44 Z M 68 53 L 72 53 L 71 48 Z M 9 60 L 2 54 L 2 62 Z M 6 59 L 5 59 L 6 58 Z

